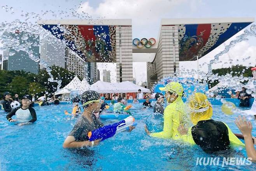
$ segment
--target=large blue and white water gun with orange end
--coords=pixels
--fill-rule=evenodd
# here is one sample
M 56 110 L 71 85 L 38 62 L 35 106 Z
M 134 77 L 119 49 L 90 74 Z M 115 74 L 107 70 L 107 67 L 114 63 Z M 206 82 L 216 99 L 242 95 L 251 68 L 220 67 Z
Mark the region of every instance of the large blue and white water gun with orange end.
M 88 133 L 89 141 L 94 141 L 101 139 L 101 141 L 114 136 L 116 133 L 122 132 L 124 130 L 129 130 L 129 126 L 136 126 L 134 123 L 135 119 L 132 116 L 127 117 L 117 123 L 106 125 L 90 131 Z

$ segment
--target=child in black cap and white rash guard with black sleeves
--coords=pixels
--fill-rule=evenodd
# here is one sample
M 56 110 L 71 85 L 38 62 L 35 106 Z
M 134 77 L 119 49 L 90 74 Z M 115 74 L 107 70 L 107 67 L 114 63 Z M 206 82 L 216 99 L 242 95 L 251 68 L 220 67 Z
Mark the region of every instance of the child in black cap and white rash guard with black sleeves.
M 6 118 L 9 122 L 19 122 L 19 126 L 33 123 L 37 120 L 37 114 L 35 113 L 35 109 L 32 108 L 32 97 L 29 95 L 25 95 L 22 98 L 21 106 L 15 108 L 10 112 Z M 12 119 L 12 116 L 16 115 L 16 120 Z

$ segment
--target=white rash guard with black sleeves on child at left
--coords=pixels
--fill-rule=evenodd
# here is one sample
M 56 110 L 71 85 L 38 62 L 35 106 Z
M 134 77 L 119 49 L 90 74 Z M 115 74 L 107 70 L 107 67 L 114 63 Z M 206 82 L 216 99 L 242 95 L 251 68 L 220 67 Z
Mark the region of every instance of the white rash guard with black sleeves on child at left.
M 12 112 L 8 113 L 6 116 L 7 120 L 11 120 L 12 116 L 16 115 L 18 122 L 35 122 L 37 120 L 37 114 L 35 113 L 35 109 L 29 107 L 27 109 L 23 109 L 20 107 L 15 108 Z

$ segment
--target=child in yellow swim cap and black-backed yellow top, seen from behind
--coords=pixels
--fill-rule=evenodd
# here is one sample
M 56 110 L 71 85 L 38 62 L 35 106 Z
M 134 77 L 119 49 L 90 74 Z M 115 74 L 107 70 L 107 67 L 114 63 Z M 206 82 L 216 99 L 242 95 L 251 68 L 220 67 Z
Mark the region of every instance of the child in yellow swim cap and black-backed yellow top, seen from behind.
M 183 141 L 199 145 L 207 153 L 227 150 L 230 145 L 244 147 L 227 124 L 211 119 L 212 106 L 205 94 L 197 92 L 189 97 L 187 103 L 194 126 L 189 128 L 188 133 L 182 125 L 179 127 Z

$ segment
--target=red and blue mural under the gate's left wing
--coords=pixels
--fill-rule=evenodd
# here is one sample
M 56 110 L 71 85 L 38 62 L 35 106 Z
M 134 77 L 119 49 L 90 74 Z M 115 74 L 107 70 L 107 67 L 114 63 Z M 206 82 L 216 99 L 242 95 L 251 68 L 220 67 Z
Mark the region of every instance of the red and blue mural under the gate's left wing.
M 116 26 L 42 25 L 86 62 L 116 62 Z

